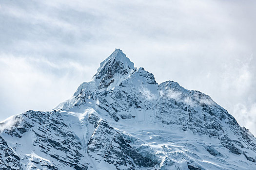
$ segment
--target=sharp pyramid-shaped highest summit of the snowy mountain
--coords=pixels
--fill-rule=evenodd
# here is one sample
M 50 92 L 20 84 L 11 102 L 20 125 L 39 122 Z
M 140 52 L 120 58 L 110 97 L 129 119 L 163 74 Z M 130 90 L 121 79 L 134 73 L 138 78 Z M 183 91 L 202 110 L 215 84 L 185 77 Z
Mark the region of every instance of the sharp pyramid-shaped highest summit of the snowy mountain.
M 120 49 L 116 49 L 100 63 L 93 80 L 98 83 L 98 89 L 114 87 L 128 77 L 132 70 L 135 70 L 134 63 Z

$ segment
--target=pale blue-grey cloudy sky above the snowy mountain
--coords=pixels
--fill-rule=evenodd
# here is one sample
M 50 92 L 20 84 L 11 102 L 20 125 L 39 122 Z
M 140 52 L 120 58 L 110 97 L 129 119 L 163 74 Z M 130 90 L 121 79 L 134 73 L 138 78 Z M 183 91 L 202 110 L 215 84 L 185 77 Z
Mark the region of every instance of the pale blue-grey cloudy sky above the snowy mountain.
M 0 0 L 0 120 L 50 110 L 120 48 L 256 136 L 255 0 Z

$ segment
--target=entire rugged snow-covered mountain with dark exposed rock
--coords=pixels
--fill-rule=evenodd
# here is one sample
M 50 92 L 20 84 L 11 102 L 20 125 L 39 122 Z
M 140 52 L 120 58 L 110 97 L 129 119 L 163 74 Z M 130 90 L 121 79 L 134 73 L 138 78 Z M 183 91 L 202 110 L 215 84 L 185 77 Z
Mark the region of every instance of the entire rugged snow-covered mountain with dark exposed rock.
M 256 138 L 208 95 L 119 49 L 49 112 L 0 123 L 1 170 L 256 170 Z

